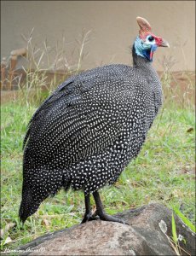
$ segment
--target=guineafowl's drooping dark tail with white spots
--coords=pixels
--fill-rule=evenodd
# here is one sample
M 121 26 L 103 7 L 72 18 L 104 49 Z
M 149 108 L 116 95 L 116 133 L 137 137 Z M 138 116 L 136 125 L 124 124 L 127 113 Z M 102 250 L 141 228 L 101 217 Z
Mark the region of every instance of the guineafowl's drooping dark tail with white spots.
M 49 195 L 54 196 L 62 187 L 67 188 L 69 184 L 68 176 L 65 172 L 56 170 L 47 172 L 36 170 L 33 173 L 31 183 L 24 177 L 22 188 L 22 200 L 20 203 L 19 217 L 23 224 L 26 218 L 37 211 L 43 200 Z

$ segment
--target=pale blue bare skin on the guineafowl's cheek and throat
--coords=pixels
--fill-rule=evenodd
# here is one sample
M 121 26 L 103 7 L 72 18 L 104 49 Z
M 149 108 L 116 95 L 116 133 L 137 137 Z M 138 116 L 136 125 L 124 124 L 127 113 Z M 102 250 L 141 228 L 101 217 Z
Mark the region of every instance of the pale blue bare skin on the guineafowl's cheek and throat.
M 151 52 L 154 52 L 157 49 L 157 45 L 155 43 L 153 44 L 145 44 L 141 38 L 137 37 L 135 40 L 135 53 L 136 55 L 139 55 L 143 58 L 147 58 L 148 61 L 153 61 L 153 55 L 152 58 L 150 57 Z

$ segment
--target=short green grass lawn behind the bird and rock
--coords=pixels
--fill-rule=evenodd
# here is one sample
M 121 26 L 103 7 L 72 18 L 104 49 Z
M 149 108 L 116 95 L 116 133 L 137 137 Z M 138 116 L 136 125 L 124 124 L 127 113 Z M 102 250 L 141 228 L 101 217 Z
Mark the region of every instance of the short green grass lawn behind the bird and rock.
M 36 107 L 20 102 L 2 106 L 2 227 L 16 224 L 3 235 L 2 249 L 15 248 L 47 232 L 79 224 L 84 214 L 82 192 L 63 190 L 44 201 L 24 227 L 18 219 L 22 186 L 22 141 Z M 162 108 L 141 153 L 111 187 L 101 189 L 109 214 L 160 202 L 181 209 L 192 222 L 194 195 L 194 113 L 189 108 Z M 94 201 L 92 204 L 95 205 Z M 11 239 L 9 243 L 8 237 Z M 5 244 L 4 244 L 5 243 Z

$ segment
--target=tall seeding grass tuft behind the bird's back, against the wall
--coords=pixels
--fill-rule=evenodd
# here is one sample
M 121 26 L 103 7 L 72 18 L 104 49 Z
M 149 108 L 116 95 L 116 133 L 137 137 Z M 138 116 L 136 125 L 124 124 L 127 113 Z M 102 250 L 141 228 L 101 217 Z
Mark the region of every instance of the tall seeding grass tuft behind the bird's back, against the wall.
M 76 39 L 78 51 L 72 52 L 68 59 L 64 36 L 61 45 L 57 42 L 55 48 L 49 46 L 47 39 L 42 47 L 37 47 L 33 42 L 33 30 L 27 37 L 22 35 L 27 49 L 26 65 L 22 67 L 25 79 L 21 81 L 21 76 L 18 79 L 19 102 L 27 106 L 38 106 L 62 81 L 82 71 L 82 61 L 88 55 L 84 47 L 89 43 L 90 34 L 88 31 L 79 35 Z

